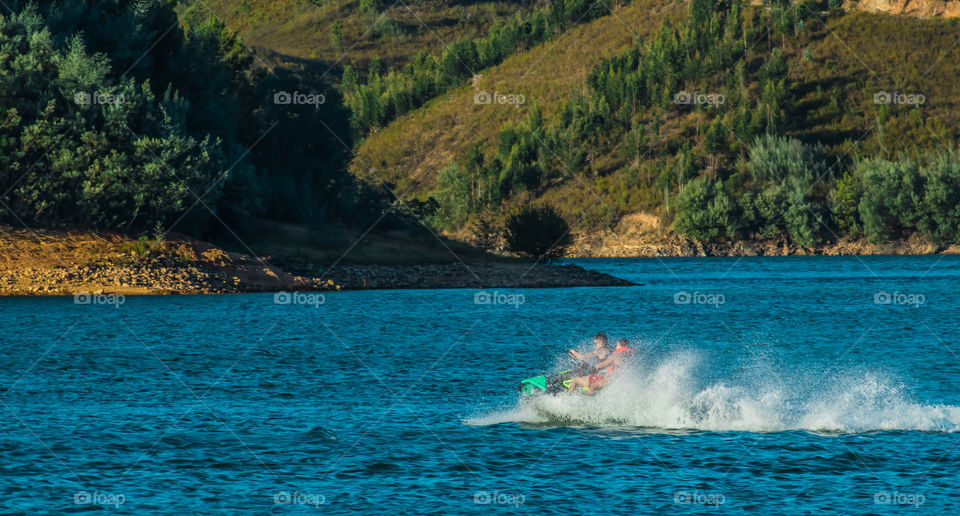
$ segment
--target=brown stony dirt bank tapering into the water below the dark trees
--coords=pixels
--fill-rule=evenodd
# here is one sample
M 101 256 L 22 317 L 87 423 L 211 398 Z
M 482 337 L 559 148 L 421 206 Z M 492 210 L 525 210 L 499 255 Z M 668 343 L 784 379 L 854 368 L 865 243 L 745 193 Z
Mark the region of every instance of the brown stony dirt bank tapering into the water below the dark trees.
M 0 226 L 0 295 L 210 294 L 380 288 L 618 286 L 629 282 L 567 265 L 288 266 L 170 235 L 140 242 L 115 233 Z

